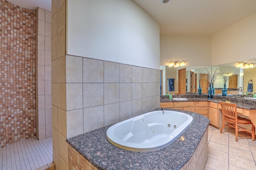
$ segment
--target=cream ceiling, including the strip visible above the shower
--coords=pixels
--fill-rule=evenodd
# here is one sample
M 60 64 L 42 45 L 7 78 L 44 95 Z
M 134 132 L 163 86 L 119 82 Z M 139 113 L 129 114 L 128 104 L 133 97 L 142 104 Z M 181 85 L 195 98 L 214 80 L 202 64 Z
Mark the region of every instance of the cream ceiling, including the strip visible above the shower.
M 51 11 L 51 0 L 8 0 Z M 133 0 L 160 24 L 161 35 L 213 35 L 256 13 L 256 0 Z

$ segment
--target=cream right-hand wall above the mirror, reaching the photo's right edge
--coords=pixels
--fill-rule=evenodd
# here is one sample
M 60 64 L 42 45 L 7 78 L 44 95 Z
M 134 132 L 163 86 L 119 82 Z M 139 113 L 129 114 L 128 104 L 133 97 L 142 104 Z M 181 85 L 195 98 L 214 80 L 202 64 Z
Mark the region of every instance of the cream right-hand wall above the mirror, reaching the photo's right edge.
M 256 56 L 256 14 L 212 36 L 212 65 Z

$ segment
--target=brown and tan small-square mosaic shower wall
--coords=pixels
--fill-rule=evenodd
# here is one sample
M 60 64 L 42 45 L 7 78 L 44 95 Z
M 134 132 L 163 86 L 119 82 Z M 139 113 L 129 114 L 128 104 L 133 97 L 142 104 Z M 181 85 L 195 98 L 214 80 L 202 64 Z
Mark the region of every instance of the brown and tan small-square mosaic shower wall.
M 36 11 L 0 1 L 0 147 L 36 135 Z

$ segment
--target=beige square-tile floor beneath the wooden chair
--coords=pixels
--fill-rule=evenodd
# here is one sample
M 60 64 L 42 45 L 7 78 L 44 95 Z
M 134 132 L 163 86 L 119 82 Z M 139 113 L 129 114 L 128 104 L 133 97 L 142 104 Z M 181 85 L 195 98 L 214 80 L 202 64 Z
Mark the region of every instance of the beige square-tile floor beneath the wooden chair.
M 208 160 L 205 170 L 256 170 L 256 141 L 250 135 L 238 133 L 235 141 L 233 129 L 209 126 Z

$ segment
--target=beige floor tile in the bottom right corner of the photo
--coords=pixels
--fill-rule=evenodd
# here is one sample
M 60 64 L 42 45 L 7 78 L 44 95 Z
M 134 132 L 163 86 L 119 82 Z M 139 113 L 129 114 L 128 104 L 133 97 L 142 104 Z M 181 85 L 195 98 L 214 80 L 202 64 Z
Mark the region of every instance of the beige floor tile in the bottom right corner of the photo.
M 229 154 L 229 163 L 246 170 L 256 170 L 255 162 L 239 156 Z

